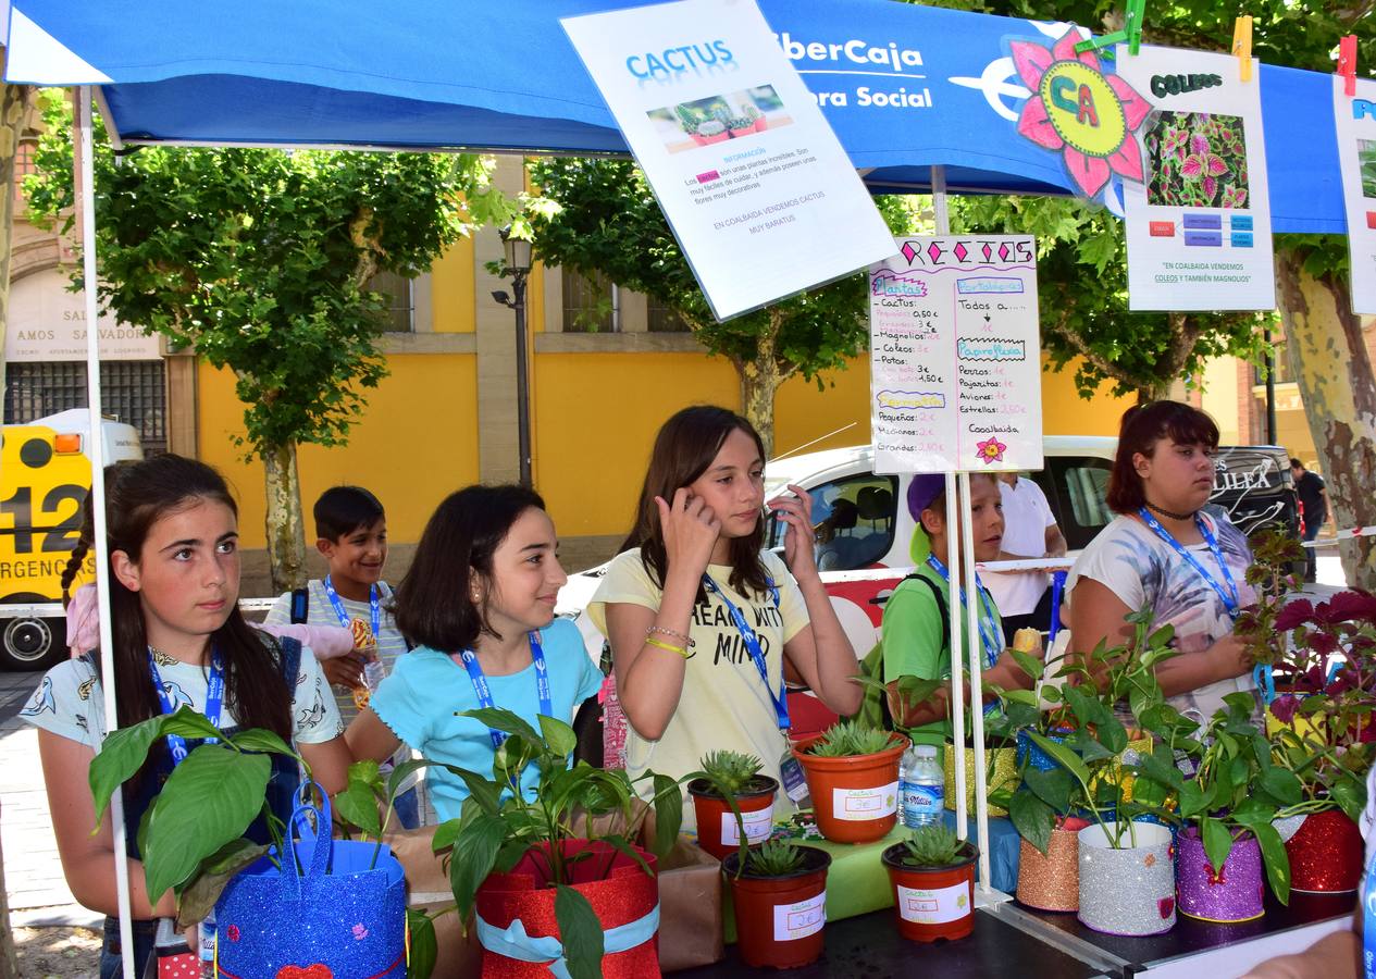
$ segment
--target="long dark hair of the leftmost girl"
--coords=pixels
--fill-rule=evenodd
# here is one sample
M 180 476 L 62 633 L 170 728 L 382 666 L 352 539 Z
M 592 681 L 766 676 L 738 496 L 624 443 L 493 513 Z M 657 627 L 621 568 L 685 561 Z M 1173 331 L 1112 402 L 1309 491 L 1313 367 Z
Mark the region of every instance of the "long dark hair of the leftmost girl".
M 110 554 L 124 551 L 138 562 L 153 525 L 166 514 L 212 500 L 238 516 L 238 507 L 223 476 L 205 463 L 165 453 L 142 461 L 124 461 L 105 470 L 105 511 Z M 62 574 L 63 598 L 94 538 L 94 494 L 87 497 L 85 519 L 77 547 Z M 120 684 L 120 727 L 136 724 L 162 712 L 149 669 L 149 640 L 136 592 L 125 588 L 109 562 L 98 569 L 110 582 L 110 615 L 114 638 L 114 672 Z M 238 599 L 238 595 L 234 596 Z M 224 701 L 241 727 L 264 727 L 283 739 L 292 737 L 292 691 L 274 660 L 272 642 L 253 629 L 231 607 L 224 624 L 211 635 L 224 658 Z M 99 666 L 99 658 L 96 658 Z

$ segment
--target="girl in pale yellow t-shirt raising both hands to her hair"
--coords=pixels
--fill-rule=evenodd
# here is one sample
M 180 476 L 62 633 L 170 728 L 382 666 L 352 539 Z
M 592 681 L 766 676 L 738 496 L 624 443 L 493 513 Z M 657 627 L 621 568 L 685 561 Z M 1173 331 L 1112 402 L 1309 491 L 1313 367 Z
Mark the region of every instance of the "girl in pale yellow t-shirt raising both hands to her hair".
M 856 654 L 817 577 L 810 498 L 790 486 L 766 504 L 764 454 L 722 408 L 687 408 L 655 439 L 636 526 L 589 606 L 611 639 L 633 777 L 680 778 L 732 749 L 780 778 L 786 662 L 830 709 L 860 706 Z M 784 560 L 764 552 L 765 508 L 787 525 Z

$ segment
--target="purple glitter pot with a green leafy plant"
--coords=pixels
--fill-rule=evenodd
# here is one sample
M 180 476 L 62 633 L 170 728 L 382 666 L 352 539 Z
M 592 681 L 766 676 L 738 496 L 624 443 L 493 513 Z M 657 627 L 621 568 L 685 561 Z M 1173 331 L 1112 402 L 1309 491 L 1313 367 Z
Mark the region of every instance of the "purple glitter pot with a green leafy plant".
M 1142 760 L 1143 781 L 1179 800 L 1176 896 L 1182 914 L 1232 924 L 1263 913 L 1263 869 L 1271 891 L 1289 902 L 1289 858 L 1271 825 L 1300 803 L 1299 778 L 1271 761 L 1271 746 L 1252 723 L 1251 694 L 1229 694 L 1203 735 L 1176 737 Z M 1190 756 L 1185 778 L 1175 752 Z

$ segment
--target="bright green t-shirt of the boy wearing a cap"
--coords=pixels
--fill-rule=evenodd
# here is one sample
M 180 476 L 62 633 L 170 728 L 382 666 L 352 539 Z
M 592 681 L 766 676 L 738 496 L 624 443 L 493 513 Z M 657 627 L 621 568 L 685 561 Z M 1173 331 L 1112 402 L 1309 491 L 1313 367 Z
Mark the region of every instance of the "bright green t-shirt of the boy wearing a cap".
M 936 585 L 943 599 L 948 593 L 948 585 L 930 565 L 921 565 L 916 574 L 926 581 L 912 578 L 900 581 L 883 606 L 879 644 L 883 651 L 885 683 L 900 676 L 916 676 L 923 680 L 945 680 L 951 676 L 951 644 L 945 642 L 947 631 L 943 627 L 947 607 L 944 600 L 937 602 L 927 582 Z M 985 607 L 984 602 L 980 603 L 982 627 L 989 629 L 989 635 L 996 636 L 1002 644 L 1003 622 L 999 610 L 988 592 L 985 592 L 985 598 L 988 598 L 988 606 Z M 966 617 L 962 614 L 960 636 L 965 650 L 970 649 L 967 632 Z M 914 742 L 919 745 L 941 745 L 951 739 L 951 722 L 933 722 L 914 728 L 911 734 Z

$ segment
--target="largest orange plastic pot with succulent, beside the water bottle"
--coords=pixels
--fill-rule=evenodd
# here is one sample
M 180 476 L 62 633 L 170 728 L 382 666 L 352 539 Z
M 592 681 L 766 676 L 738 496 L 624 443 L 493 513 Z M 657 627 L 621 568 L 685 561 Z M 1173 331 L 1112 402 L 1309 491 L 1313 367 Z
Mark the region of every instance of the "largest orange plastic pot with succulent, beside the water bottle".
M 874 843 L 897 822 L 899 763 L 908 739 L 843 720 L 793 745 L 817 829 L 834 843 Z

